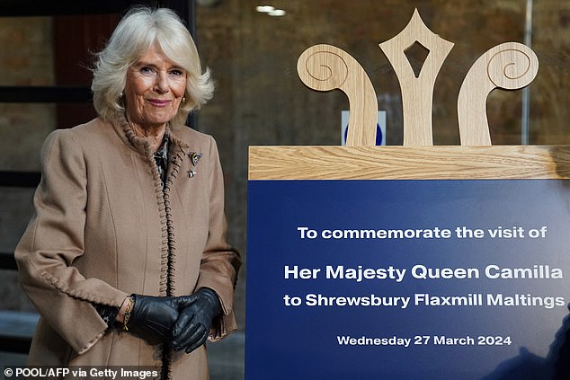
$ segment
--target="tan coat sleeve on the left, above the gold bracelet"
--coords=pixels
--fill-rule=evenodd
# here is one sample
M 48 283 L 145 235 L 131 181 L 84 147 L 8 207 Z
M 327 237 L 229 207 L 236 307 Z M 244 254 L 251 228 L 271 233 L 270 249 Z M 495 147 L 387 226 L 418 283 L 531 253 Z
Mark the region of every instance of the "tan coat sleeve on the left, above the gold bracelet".
M 87 171 L 73 131 L 57 130 L 41 150 L 35 214 L 14 252 L 20 283 L 42 319 L 78 354 L 107 329 L 94 304 L 120 306 L 126 293 L 74 266 L 84 254 Z

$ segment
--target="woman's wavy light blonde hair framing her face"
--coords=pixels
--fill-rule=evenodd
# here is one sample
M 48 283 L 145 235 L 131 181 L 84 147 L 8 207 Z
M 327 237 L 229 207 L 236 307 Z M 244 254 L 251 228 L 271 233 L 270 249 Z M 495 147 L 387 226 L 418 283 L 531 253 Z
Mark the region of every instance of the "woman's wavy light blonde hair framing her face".
M 187 72 L 186 102 L 180 104 L 174 125 L 184 125 L 191 110 L 200 109 L 211 99 L 214 84 L 209 69 L 202 73 L 198 49 L 180 17 L 167 8 L 137 6 L 125 14 L 105 48 L 95 54 L 91 90 L 94 108 L 102 119 L 124 114 L 122 93 L 127 70 L 155 42 L 166 57 Z

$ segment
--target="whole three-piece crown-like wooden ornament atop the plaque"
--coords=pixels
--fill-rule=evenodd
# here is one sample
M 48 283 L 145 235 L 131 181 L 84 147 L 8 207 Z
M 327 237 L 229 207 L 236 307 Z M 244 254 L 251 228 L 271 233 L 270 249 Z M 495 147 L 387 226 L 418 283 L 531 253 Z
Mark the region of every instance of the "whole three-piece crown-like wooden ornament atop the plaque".
M 419 75 L 405 56 L 419 44 L 429 50 Z M 394 67 L 402 93 L 404 146 L 432 146 L 432 98 L 435 80 L 453 43 L 441 39 L 422 21 L 417 9 L 396 37 L 379 44 Z M 378 101 L 368 75 L 350 54 L 331 45 L 315 45 L 298 58 L 298 75 L 316 91 L 339 89 L 349 99 L 351 115 L 347 146 L 374 146 Z M 459 137 L 462 146 L 490 146 L 486 98 L 495 88 L 520 89 L 539 71 L 534 52 L 516 42 L 489 49 L 471 66 L 458 99 Z

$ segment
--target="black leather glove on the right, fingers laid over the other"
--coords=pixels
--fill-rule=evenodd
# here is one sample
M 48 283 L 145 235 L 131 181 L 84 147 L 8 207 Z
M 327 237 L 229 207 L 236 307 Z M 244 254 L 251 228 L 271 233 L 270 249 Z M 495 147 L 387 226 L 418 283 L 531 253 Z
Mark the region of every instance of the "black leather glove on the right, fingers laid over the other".
M 208 339 L 212 321 L 221 311 L 218 296 L 212 289 L 201 287 L 191 296 L 174 297 L 180 316 L 174 324 L 173 349 L 190 353 Z

